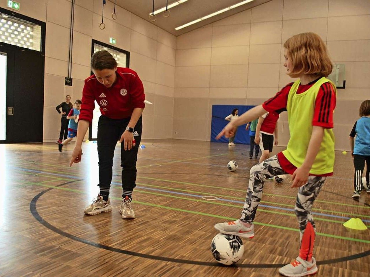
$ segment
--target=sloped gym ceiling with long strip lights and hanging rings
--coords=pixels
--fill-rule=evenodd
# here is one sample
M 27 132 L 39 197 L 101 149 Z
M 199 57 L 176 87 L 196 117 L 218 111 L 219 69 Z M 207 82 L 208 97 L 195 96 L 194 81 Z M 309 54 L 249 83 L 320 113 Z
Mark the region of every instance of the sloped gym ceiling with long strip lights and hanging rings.
M 114 2 L 114 0 L 110 1 Z M 176 0 L 168 0 L 168 4 L 171 4 L 175 1 Z M 178 36 L 271 0 L 254 0 L 240 7 L 226 11 L 225 13 L 202 20 L 189 27 L 185 27 L 178 31 L 175 30 L 175 27 L 222 10 L 223 8 L 229 7 L 241 1 L 242 0 L 189 0 L 171 8 L 169 10 L 171 11 L 171 15 L 169 17 L 164 17 L 162 13 L 157 14 L 157 20 L 154 22 L 149 20 L 149 13 L 152 11 L 153 0 L 116 0 L 116 4 L 125 10 L 128 10 L 131 13 L 147 20 L 148 22 L 168 31 L 169 33 Z M 166 0 L 154 0 L 154 10 L 164 6 L 166 6 Z

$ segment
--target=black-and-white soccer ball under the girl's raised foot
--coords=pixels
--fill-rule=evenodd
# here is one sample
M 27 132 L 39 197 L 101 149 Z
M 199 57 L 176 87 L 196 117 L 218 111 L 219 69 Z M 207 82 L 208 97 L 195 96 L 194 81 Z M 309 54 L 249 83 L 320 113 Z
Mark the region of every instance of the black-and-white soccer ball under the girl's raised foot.
M 212 239 L 211 252 L 216 261 L 229 266 L 242 258 L 244 245 L 240 237 L 220 233 Z

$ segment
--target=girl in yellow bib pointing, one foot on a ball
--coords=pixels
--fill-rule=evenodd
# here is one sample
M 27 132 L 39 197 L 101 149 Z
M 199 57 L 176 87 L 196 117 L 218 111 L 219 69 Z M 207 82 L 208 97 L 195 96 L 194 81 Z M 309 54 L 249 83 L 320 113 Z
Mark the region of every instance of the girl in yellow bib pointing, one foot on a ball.
M 288 112 L 290 131 L 287 149 L 250 169 L 240 219 L 218 223 L 215 229 L 225 234 L 253 237 L 253 220 L 262 198 L 265 179 L 292 174 L 292 188 L 298 188 L 295 213 L 300 229 L 300 249 L 296 260 L 280 268 L 279 273 L 295 277 L 317 272 L 316 260 L 312 257 L 315 223 L 311 209 L 326 177 L 333 174 L 332 128 L 336 88 L 326 78 L 332 72 L 332 63 L 319 35 L 294 35 L 284 43 L 284 48 L 287 74 L 299 79 L 285 86 L 262 105 L 230 122 L 216 138 L 230 137 L 235 127 L 257 119 L 266 112 L 283 109 Z

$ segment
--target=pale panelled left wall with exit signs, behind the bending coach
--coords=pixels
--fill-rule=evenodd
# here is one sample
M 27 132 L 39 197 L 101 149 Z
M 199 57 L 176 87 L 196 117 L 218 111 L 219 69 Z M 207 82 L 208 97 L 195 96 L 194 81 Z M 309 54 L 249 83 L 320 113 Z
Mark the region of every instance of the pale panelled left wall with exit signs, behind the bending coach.
M 71 1 L 23 0 L 20 12 L 46 22 L 44 141 L 56 141 L 60 131 L 60 115 L 55 106 L 69 94 L 74 102 L 81 99 L 84 79 L 90 76 L 91 39 L 109 44 L 117 39 L 117 47 L 130 51 L 130 68 L 138 72 L 144 83 L 147 105 L 143 113 L 143 138 L 171 138 L 175 76 L 176 37 L 116 7 L 117 20 L 111 17 L 113 3 L 104 7 L 106 28 L 101 23 L 101 0 L 76 0 L 73 35 L 73 86 L 64 85 L 68 71 Z M 6 1 L 0 2 L 6 7 Z

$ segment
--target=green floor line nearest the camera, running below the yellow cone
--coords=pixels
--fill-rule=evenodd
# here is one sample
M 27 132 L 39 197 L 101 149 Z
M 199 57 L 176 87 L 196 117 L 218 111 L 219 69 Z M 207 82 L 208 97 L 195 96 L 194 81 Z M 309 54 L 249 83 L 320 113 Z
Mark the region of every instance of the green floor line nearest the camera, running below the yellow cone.
M 56 187 L 56 186 L 45 185 L 45 184 L 37 184 L 37 183 L 27 183 L 27 182 L 25 182 L 24 184 L 20 184 L 20 185 L 39 185 L 39 186 L 42 186 L 42 187 L 62 189 L 62 190 L 65 190 L 65 191 L 71 191 L 71 192 L 77 192 L 77 193 L 80 193 L 80 194 L 86 194 L 86 192 L 79 191 L 77 189 Z M 120 197 L 111 197 L 111 199 L 119 200 L 119 201 L 122 200 L 122 198 L 120 198 Z M 172 211 L 186 212 L 186 213 L 192 213 L 192 214 L 196 214 L 196 215 L 210 216 L 210 217 L 213 217 L 213 218 L 220 218 L 220 219 L 226 219 L 226 220 L 237 220 L 236 218 L 229 218 L 229 217 L 226 217 L 226 216 L 213 215 L 213 214 L 210 214 L 210 213 L 202 213 L 202 212 L 189 211 L 189 210 L 185 210 L 185 209 L 172 208 L 172 207 L 168 207 L 168 206 L 151 204 L 151 203 L 147 203 L 147 202 L 141 202 L 141 201 L 135 201 L 135 200 L 133 202 L 135 204 L 141 204 L 141 205 L 146 205 L 146 206 L 152 206 L 152 207 L 158 207 L 158 208 L 163 208 L 163 209 L 169 209 L 169 210 L 172 210 Z M 255 225 L 262 225 L 262 226 L 268 226 L 268 227 L 277 228 L 277 229 L 284 229 L 284 230 L 290 230 L 290 231 L 299 232 L 299 229 L 285 227 L 285 226 L 279 226 L 279 225 L 273 225 L 273 224 L 261 223 L 261 222 L 253 222 L 253 223 Z M 336 238 L 336 239 L 350 240 L 350 241 L 355 241 L 355 242 L 370 243 L 370 240 L 355 239 L 355 238 L 352 238 L 352 237 L 342 237 L 342 236 L 330 235 L 330 234 L 326 234 L 326 233 L 316 233 L 316 235 L 326 236 L 326 237 L 333 237 L 333 238 Z

